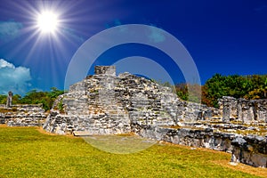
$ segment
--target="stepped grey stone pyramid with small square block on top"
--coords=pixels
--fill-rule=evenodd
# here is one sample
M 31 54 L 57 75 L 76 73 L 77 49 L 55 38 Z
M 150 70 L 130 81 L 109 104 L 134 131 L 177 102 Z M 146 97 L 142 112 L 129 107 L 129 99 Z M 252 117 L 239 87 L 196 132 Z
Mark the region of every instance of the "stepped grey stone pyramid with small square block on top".
M 218 117 L 218 109 L 181 101 L 171 88 L 144 77 L 116 77 L 114 66 L 96 66 L 94 72 L 59 97 L 44 129 L 57 134 L 121 134 L 131 132 L 131 124 L 176 125 Z

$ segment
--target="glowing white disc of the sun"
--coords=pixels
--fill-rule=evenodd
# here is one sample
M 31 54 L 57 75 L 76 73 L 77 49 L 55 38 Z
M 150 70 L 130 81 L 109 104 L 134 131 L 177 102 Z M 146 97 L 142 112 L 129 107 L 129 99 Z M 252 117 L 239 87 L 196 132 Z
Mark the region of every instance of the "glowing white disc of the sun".
M 42 12 L 37 17 L 37 27 L 42 33 L 54 33 L 58 25 L 58 16 L 54 12 Z

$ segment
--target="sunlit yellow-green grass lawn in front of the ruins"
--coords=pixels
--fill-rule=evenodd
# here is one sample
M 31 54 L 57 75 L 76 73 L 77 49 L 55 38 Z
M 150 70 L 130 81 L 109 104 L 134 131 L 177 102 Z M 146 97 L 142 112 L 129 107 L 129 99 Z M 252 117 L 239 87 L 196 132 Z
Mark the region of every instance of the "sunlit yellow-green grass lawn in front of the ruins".
M 223 152 L 155 144 L 133 154 L 112 154 L 92 147 L 82 138 L 44 134 L 40 130 L 37 127 L 0 126 L 0 177 L 197 178 L 266 175 L 263 168 L 230 166 L 231 155 Z

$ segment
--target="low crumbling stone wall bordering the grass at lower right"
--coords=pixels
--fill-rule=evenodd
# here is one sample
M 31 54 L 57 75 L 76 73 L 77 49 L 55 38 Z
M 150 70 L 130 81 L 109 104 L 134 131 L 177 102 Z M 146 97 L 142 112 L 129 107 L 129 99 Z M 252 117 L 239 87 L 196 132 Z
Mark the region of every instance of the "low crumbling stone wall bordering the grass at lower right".
M 231 162 L 267 167 L 267 136 L 221 133 L 213 128 L 164 128 L 134 125 L 135 133 L 157 141 L 231 153 Z

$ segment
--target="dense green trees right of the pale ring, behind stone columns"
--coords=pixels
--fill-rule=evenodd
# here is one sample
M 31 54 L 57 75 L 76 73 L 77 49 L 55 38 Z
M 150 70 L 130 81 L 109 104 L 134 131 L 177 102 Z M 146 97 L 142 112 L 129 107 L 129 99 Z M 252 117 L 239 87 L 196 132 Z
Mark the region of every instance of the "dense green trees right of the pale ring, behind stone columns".
M 267 75 L 222 76 L 215 74 L 202 87 L 202 102 L 218 107 L 218 99 L 232 96 L 245 99 L 267 98 Z

